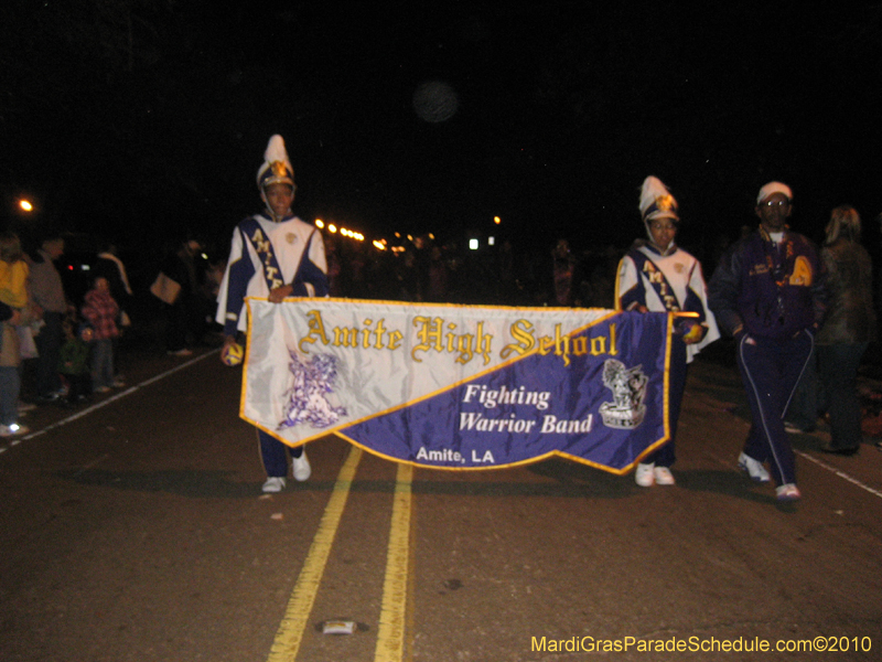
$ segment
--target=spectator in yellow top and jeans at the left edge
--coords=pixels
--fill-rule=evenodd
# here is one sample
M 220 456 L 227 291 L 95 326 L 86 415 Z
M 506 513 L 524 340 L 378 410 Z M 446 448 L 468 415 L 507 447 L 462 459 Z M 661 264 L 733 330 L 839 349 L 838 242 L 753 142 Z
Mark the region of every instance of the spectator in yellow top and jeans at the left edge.
M 28 264 L 22 259 L 19 237 L 11 232 L 0 234 L 0 437 L 23 435 L 25 426 L 18 424 L 21 391 L 21 351 L 18 327 L 29 320 Z

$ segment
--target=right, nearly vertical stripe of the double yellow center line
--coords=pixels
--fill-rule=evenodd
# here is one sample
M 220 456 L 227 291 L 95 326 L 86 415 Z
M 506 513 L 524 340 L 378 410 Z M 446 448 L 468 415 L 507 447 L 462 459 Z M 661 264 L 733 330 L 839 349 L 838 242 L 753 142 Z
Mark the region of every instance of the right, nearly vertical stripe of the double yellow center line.
M 413 467 L 398 465 L 374 662 L 401 662 L 405 655 L 412 482 Z

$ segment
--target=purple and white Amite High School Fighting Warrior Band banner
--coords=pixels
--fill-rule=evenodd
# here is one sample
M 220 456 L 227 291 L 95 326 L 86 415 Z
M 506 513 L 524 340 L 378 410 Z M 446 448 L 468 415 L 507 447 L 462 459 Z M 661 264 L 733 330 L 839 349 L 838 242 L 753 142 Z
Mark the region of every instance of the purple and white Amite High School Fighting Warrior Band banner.
M 435 469 L 562 456 L 625 473 L 669 437 L 666 313 L 248 299 L 240 416 Z

